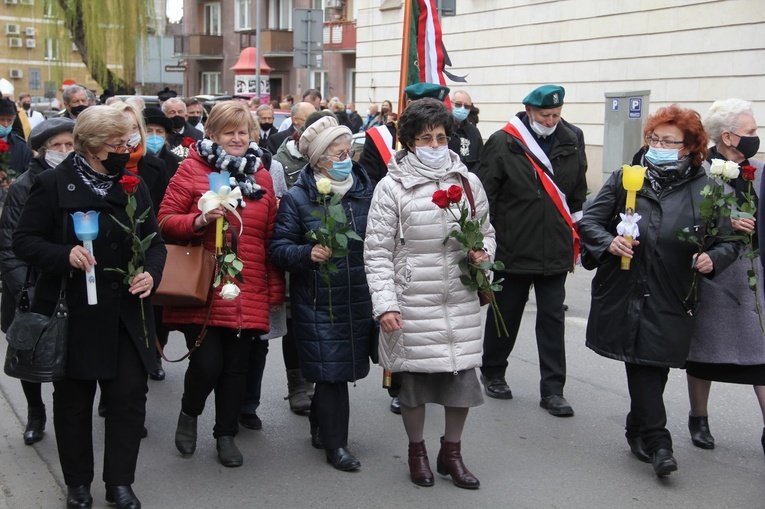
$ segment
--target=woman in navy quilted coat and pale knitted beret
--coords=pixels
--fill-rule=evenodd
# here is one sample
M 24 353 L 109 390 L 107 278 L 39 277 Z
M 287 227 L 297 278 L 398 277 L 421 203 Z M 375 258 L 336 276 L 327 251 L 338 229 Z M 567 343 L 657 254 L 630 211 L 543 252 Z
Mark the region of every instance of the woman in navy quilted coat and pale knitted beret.
M 306 127 L 299 146 L 309 164 L 282 198 L 270 256 L 290 273 L 292 328 L 303 375 L 316 383 L 309 414 L 311 444 L 325 449 L 327 462 L 336 469 L 355 470 L 361 463 L 347 449 L 348 382 L 369 373 L 376 332 L 364 276 L 363 243 L 349 239 L 348 254 L 337 257 L 309 241 L 306 234 L 322 227 L 317 187 L 321 182 L 329 184 L 332 199 L 339 195 L 347 225 L 363 238 L 372 185 L 351 159 L 350 129 L 338 126 L 333 116 Z M 320 265 L 330 260 L 336 270 L 329 273 L 327 284 Z

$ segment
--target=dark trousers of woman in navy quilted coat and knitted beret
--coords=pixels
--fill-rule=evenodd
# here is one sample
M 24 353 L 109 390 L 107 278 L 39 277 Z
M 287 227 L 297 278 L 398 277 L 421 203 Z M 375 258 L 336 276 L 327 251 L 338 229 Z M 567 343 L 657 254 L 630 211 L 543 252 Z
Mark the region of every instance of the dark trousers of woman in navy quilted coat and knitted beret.
M 319 427 L 319 436 L 325 448 L 337 449 L 347 446 L 348 421 L 351 418 L 348 383 L 317 382 L 308 418 L 311 426 Z

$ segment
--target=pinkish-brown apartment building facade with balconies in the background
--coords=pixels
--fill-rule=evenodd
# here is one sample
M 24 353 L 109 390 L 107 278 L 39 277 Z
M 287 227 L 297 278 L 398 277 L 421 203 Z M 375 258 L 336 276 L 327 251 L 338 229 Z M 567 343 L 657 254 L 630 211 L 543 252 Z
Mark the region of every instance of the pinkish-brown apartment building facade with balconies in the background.
M 353 99 L 355 90 L 358 0 L 184 0 L 183 35 L 175 38 L 175 56 L 186 67 L 185 95 L 234 94 L 231 70 L 247 47 L 256 46 L 257 4 L 261 5 L 262 56 L 273 68 L 272 99 L 300 97 L 318 88 L 326 97 Z M 294 60 L 293 9 L 322 9 L 323 58 L 316 67 Z

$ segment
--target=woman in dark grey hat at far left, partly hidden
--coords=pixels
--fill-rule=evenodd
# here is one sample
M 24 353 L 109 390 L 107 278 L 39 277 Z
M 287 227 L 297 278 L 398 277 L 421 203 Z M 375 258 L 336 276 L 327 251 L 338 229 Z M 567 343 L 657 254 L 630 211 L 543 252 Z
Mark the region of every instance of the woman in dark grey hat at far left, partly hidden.
M 73 129 L 74 120 L 58 117 L 45 120 L 35 126 L 29 133 L 28 143 L 29 147 L 37 152 L 37 156 L 29 162 L 27 171 L 8 189 L 8 199 L 0 217 L 0 274 L 3 278 L 0 328 L 3 332 L 8 330 L 16 315 L 18 297 L 29 270 L 29 265 L 19 260 L 11 249 L 13 231 L 16 229 L 21 209 L 37 176 L 49 168 L 58 166 L 74 149 Z M 37 279 L 37 271 L 33 272 L 31 281 Z M 22 380 L 21 387 L 27 400 L 24 443 L 32 445 L 43 438 L 46 423 L 45 404 L 43 404 L 39 383 Z

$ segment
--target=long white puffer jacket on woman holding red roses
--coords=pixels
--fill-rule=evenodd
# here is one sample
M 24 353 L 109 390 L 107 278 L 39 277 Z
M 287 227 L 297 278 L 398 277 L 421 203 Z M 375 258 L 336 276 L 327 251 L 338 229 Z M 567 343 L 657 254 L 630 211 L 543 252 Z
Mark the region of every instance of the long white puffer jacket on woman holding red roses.
M 451 169 L 436 181 L 420 175 L 406 153 L 398 152 L 369 209 L 364 263 L 374 315 L 398 311 L 404 323 L 403 330 L 380 332 L 380 364 L 393 372 L 444 373 L 481 365 L 478 295 L 460 281 L 459 263 L 467 254 L 454 239 L 444 245 L 458 225 L 432 198 L 438 189 L 462 187 L 463 175 L 473 191 L 476 218 L 489 213 L 489 202 L 478 177 L 457 154 L 449 154 Z M 464 192 L 462 204 L 469 210 Z M 488 219 L 482 233 L 493 258 L 496 241 Z

